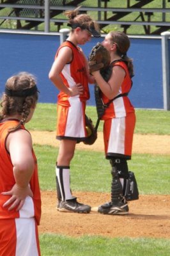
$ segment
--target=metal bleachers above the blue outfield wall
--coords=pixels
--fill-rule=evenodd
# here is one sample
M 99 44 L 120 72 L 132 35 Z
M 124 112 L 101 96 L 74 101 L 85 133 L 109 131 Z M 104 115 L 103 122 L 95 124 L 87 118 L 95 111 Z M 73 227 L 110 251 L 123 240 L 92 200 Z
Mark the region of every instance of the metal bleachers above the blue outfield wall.
M 120 7 L 118 2 L 121 3 Z M 9 23 L 10 29 L 38 31 L 42 29 L 39 25 L 49 19 L 49 24 L 56 25 L 59 31 L 65 28 L 67 22 L 63 11 L 79 5 L 82 13 L 95 17 L 104 32 L 107 26 L 115 24 L 125 33 L 132 26 L 142 26 L 145 35 L 160 35 L 170 29 L 170 0 L 96 0 L 93 7 L 88 3 L 87 0 L 0 0 L 0 29 L 8 29 Z M 150 3 L 154 8 L 148 7 Z M 49 8 L 49 15 L 45 8 Z M 154 19 L 158 13 L 159 19 Z

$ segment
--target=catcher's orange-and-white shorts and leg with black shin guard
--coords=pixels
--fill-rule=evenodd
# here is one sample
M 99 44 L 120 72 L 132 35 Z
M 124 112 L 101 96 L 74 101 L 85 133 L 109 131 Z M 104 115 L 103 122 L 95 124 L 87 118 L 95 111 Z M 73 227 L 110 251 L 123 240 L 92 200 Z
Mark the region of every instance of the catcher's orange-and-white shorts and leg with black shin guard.
M 129 172 L 127 159 L 130 159 L 132 154 L 134 126 L 134 114 L 125 118 L 112 118 L 105 121 L 105 156 L 107 159 L 110 159 L 111 162 L 112 184 L 111 202 L 109 204 L 104 204 L 102 205 L 102 208 L 99 208 L 99 212 L 101 213 L 128 213 L 127 197 L 125 196 L 130 185 L 130 182 L 128 182 Z

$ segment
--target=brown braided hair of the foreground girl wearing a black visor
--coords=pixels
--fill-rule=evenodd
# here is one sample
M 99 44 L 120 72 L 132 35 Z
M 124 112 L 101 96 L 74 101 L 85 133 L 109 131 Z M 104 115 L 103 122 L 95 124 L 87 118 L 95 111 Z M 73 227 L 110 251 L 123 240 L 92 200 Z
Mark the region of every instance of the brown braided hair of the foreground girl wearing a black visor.
M 29 88 L 33 88 L 36 86 L 35 76 L 29 74 L 27 72 L 20 72 L 16 76 L 10 77 L 6 81 L 6 90 L 9 92 L 13 92 L 14 95 L 17 92 L 24 92 L 24 90 L 29 91 Z M 33 107 L 38 100 L 38 90 L 32 93 L 29 96 L 17 97 L 17 96 L 9 96 L 8 93 L 3 93 L 3 97 L 1 100 L 1 112 L 0 112 L 0 120 L 4 118 L 19 114 L 22 118 L 20 120 L 19 125 L 13 128 L 12 131 L 15 131 L 20 128 L 20 125 L 25 124 L 27 116 L 30 113 L 31 107 Z

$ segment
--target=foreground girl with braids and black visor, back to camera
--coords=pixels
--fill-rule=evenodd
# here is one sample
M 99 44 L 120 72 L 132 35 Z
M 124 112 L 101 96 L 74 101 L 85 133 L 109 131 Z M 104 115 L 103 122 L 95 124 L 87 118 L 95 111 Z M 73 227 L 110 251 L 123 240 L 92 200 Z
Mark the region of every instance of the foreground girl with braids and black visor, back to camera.
M 31 120 L 38 100 L 35 77 L 6 81 L 0 111 L 0 255 L 40 255 L 41 198 Z

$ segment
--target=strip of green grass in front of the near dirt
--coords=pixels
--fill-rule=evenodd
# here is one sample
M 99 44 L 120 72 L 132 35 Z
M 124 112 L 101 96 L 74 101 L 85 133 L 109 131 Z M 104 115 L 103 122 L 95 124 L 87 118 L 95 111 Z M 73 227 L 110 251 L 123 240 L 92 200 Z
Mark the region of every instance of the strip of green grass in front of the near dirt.
M 42 256 L 169 256 L 168 239 L 79 238 L 43 234 L 40 236 Z

